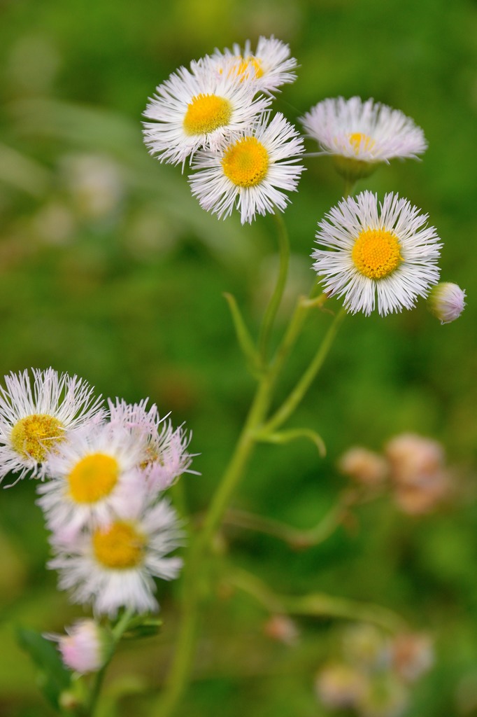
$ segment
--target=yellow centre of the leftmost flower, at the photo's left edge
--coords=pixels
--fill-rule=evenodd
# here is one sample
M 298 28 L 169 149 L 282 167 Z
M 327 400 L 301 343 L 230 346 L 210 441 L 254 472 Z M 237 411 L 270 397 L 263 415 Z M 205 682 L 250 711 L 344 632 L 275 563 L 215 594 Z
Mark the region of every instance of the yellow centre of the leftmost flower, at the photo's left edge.
M 64 425 L 54 416 L 34 413 L 16 422 L 10 440 L 21 457 L 41 462 L 55 444 L 64 440 Z

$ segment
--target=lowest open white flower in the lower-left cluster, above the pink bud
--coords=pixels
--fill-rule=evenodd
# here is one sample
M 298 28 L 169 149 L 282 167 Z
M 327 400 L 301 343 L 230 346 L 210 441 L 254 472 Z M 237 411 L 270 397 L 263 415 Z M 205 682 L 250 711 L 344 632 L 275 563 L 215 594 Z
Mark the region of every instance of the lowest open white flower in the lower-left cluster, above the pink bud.
M 167 501 L 131 505 L 121 518 L 74 541 L 52 536 L 56 556 L 49 567 L 59 571 L 59 588 L 69 590 L 73 602 L 91 603 L 95 614 L 114 617 L 121 607 L 148 612 L 158 609 L 153 578 L 178 576 L 182 560 L 168 554 L 181 538 Z

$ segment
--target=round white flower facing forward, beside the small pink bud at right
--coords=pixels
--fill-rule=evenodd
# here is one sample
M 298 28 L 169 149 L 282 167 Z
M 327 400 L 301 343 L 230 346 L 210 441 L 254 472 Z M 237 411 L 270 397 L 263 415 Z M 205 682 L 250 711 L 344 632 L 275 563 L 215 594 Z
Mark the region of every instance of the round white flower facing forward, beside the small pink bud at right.
M 427 214 L 397 194 L 377 196 L 364 191 L 339 202 L 319 223 L 314 270 L 324 277 L 329 295 L 344 296 L 350 313 L 385 316 L 413 308 L 438 282 L 442 244 Z

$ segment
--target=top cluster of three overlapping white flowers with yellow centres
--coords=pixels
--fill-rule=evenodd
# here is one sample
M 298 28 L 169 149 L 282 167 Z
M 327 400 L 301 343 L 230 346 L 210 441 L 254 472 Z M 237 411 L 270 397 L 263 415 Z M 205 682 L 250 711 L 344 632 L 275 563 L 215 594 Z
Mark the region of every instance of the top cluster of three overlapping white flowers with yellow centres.
M 180 67 L 159 85 L 145 110 L 145 143 L 160 161 L 192 166 L 191 189 L 218 217 L 236 206 L 241 222 L 284 211 L 303 167 L 302 138 L 281 113 L 271 117 L 273 93 L 295 80 L 288 45 L 261 37 L 255 52 L 218 49 Z

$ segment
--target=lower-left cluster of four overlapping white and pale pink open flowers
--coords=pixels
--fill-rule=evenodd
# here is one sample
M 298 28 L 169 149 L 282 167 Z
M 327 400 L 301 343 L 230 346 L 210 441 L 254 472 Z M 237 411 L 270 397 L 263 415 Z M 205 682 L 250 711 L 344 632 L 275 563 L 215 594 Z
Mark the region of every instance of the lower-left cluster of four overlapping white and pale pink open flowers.
M 163 492 L 191 472 L 190 436 L 147 401 L 103 407 L 77 376 L 53 369 L 5 377 L 0 387 L 0 477 L 42 478 L 59 587 L 96 614 L 157 609 L 154 578 L 178 575 L 181 542 Z

